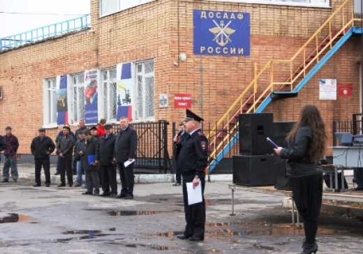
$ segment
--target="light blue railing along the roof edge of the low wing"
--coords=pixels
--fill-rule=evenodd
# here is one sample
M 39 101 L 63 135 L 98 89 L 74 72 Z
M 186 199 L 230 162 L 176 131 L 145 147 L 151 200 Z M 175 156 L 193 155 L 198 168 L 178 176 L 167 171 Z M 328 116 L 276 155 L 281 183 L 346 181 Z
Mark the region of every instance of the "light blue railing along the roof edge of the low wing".
M 64 22 L 50 24 L 49 26 L 15 34 L 14 36 L 0 38 L 0 51 L 27 43 L 34 43 L 37 40 L 43 40 L 51 36 L 59 36 L 63 33 L 77 31 L 90 26 L 91 20 L 89 14 L 76 17 L 73 20 L 66 20 Z

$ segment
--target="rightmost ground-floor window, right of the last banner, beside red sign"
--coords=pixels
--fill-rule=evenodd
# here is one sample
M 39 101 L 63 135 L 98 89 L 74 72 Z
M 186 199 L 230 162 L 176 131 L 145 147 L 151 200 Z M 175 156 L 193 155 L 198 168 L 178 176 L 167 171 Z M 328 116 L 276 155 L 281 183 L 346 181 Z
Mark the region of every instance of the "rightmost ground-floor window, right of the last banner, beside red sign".
M 135 63 L 135 120 L 154 121 L 154 60 Z

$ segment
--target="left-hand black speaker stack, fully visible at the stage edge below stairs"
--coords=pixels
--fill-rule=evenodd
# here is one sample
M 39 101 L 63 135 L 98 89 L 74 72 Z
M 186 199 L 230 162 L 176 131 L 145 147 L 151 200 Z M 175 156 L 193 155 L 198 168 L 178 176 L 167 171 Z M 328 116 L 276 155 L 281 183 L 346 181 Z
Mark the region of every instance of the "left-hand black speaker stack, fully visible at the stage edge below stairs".
M 272 137 L 274 114 L 239 114 L 239 155 L 232 156 L 233 184 L 264 186 L 274 184 Z

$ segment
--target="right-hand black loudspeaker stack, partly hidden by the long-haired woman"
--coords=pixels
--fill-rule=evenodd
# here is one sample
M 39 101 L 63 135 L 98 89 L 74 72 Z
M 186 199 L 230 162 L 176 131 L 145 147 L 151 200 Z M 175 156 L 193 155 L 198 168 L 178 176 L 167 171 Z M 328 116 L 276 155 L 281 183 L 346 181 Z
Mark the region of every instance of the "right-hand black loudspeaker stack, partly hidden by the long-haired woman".
M 276 121 L 273 123 L 273 141 L 279 147 L 288 147 L 285 138 L 295 125 L 295 121 Z M 280 156 L 274 154 L 274 187 L 278 190 L 290 191 L 290 181 L 286 177 L 286 162 Z

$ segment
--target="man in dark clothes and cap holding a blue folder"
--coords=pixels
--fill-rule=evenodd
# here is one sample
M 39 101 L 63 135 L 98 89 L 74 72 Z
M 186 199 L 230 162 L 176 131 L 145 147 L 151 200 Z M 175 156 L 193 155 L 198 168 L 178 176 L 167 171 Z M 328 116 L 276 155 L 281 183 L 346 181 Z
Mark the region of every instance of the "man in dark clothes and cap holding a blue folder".
M 98 195 L 100 194 L 98 179 L 98 140 L 91 135 L 90 130 L 83 130 L 84 149 L 83 167 L 86 174 L 87 191 L 82 195 Z

